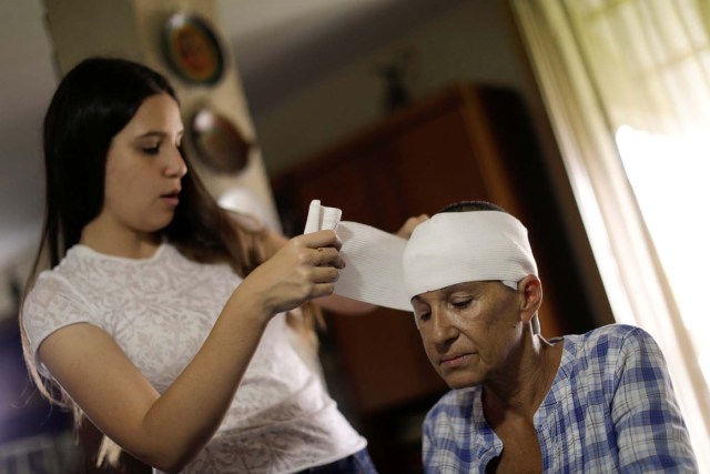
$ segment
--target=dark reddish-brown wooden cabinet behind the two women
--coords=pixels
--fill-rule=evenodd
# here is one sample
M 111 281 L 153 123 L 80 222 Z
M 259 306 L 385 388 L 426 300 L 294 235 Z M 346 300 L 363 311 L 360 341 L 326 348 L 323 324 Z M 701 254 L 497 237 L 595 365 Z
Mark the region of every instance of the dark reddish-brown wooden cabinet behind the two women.
M 284 226 L 294 234 L 312 199 L 341 208 L 344 220 L 390 232 L 410 215 L 433 214 L 456 201 L 495 202 L 528 226 L 548 290 L 540 311 L 544 334 L 591 329 L 591 305 L 536 138 L 510 90 L 453 85 L 308 158 L 272 184 Z M 361 416 L 392 413 L 446 390 L 408 313 L 329 315 L 327 324 Z

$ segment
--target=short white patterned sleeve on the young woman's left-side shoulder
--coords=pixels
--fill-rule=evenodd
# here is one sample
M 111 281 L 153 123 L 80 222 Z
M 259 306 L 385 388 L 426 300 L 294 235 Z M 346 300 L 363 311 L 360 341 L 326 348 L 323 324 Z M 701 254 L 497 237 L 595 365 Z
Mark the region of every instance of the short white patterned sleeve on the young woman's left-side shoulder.
M 22 325 L 42 376 L 49 379 L 51 374 L 39 357 L 40 344 L 54 331 L 77 323 L 105 329 L 67 280 L 51 272 L 40 274 L 22 306 Z

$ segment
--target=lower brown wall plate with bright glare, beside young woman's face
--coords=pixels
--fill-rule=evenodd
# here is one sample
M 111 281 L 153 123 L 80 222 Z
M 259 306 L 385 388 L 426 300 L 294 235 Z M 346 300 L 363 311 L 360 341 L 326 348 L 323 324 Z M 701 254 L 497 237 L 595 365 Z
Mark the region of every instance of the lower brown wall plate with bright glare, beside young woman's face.
M 251 143 L 229 119 L 209 109 L 193 115 L 190 134 L 197 158 L 212 171 L 237 173 L 248 163 Z

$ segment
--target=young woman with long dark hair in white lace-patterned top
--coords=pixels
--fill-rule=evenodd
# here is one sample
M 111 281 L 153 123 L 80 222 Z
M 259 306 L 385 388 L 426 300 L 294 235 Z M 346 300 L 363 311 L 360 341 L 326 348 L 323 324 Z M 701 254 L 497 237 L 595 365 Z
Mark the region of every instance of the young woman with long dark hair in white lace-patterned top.
M 221 210 L 181 152 L 173 89 L 141 64 L 81 62 L 43 132 L 21 324 L 44 393 L 163 472 L 374 472 L 291 337 L 311 300 L 338 305 L 336 234 L 287 241 Z

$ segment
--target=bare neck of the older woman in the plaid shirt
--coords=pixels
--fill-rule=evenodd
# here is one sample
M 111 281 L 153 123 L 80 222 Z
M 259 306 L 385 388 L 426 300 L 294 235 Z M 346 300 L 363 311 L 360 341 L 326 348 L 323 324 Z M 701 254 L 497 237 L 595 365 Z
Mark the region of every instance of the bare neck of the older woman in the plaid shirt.
M 484 384 L 486 415 L 531 418 L 552 386 L 561 351 L 561 342 L 550 345 L 539 335 L 524 337 L 510 356 L 506 374 Z

